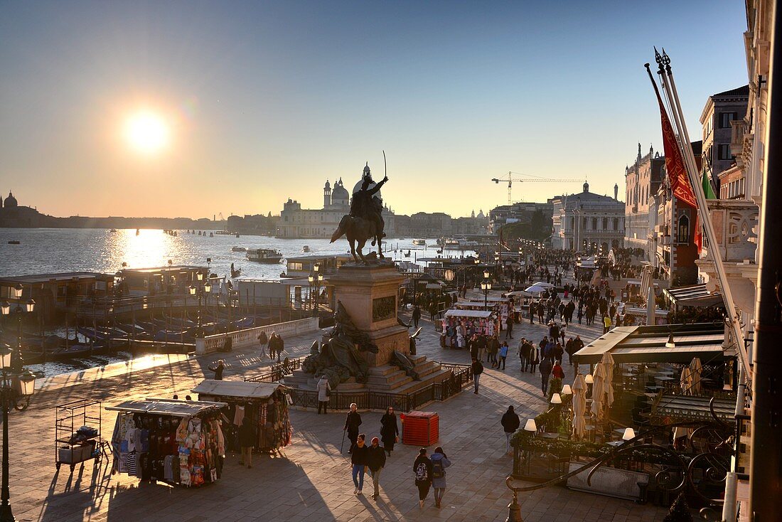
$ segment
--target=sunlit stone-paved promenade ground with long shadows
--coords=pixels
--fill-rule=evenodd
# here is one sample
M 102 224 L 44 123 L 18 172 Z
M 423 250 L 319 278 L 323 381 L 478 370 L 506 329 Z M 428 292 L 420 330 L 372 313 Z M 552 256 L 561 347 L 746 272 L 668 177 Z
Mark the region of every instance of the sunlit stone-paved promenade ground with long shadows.
M 409 319 L 409 317 L 407 318 Z M 432 323 L 422 323 L 424 333 L 418 353 L 447 362 L 468 362 L 463 350 L 443 350 Z M 544 327 L 516 325 L 514 343 L 522 336 L 540 340 Z M 572 326 L 585 342 L 597 337 L 597 329 Z M 306 355 L 317 334 L 286 339 L 288 355 Z M 344 412 L 316 415 L 293 411 L 294 442 L 282 456 L 256 457 L 253 469 L 237 464 L 228 455 L 221 481 L 204 488 L 170 488 L 163 484 L 139 484 L 126 475 L 110 475 L 106 462 L 85 463 L 73 474 L 55 469 L 55 406 L 80 398 L 102 398 L 104 405 L 125 398 L 183 397 L 203 378 L 207 366 L 226 359 L 227 379 L 263 371 L 270 365 L 257 351 L 200 358 L 157 356 L 132 365 L 113 365 L 49 380 L 30 409 L 13 412 L 9 429 L 11 446 L 11 502 L 17 520 L 504 520 L 511 494 L 504 479 L 511 457 L 504 455 L 505 437 L 500 416 L 513 404 L 523 419 L 545 407 L 540 378 L 519 371 L 511 351 L 505 371 L 487 368 L 480 394 L 465 390 L 445 402 L 425 407 L 439 413 L 440 438 L 453 466 L 443 507 L 436 509 L 432 493 L 425 509 L 418 507 L 412 462 L 418 448 L 397 445 L 382 473 L 381 495 L 353 495 L 349 455 L 339 454 Z M 572 380 L 572 367 L 566 366 Z M 362 430 L 378 434 L 379 412 L 363 412 Z M 113 413 L 104 412 L 103 430 L 113 428 Z M 371 492 L 367 477 L 364 491 Z M 522 517 L 526 522 L 652 522 L 665 510 L 637 506 L 633 502 L 590 495 L 566 488 L 547 488 L 523 494 Z

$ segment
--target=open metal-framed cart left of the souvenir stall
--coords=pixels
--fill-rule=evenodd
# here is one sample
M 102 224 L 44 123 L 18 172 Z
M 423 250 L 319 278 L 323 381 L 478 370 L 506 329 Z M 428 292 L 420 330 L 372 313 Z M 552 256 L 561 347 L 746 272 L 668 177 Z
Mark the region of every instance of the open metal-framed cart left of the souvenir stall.
M 97 465 L 109 460 L 111 445 L 101 437 L 101 401 L 80 399 L 57 406 L 55 423 L 55 463 L 73 471 L 78 463 L 94 459 Z M 81 430 L 90 426 L 93 430 Z

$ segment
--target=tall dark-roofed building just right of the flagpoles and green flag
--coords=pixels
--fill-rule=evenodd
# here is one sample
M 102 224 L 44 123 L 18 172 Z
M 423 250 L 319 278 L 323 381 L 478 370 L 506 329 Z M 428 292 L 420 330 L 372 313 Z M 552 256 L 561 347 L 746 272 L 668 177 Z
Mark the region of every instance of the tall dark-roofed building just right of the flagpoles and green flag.
M 734 125 L 747 115 L 749 85 L 718 92 L 708 97 L 701 113 L 703 153 L 701 174 L 712 182 L 714 193 L 721 199 L 744 196 L 744 175 L 736 167 L 733 150 Z

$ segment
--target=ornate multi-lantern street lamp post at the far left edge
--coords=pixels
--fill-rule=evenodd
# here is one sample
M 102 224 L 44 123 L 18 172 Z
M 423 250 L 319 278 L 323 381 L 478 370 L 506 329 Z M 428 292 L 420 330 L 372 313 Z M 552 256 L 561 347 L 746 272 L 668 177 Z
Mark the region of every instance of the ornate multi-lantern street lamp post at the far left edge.
M 16 293 L 15 297 L 21 297 L 21 291 Z M 26 303 L 28 313 L 34 309 L 34 301 Z M 0 304 L 2 315 L 9 315 L 11 305 L 7 302 Z M 22 308 L 17 308 L 16 313 L 21 318 Z M 21 319 L 20 319 L 21 325 Z M 20 326 L 21 329 L 21 326 Z M 19 336 L 21 343 L 21 333 Z M 10 492 L 9 492 L 9 457 L 8 457 L 8 414 L 11 409 L 23 411 L 30 405 L 30 395 L 35 390 L 35 375 L 30 370 L 22 371 L 21 344 L 18 345 L 16 353 L 9 347 L 0 347 L 0 372 L 2 372 L 2 386 L 0 386 L 0 407 L 2 407 L 2 492 L 0 492 L 0 522 L 14 522 L 11 511 Z M 16 359 L 12 362 L 13 356 Z M 17 370 L 18 368 L 18 370 Z M 13 385 L 13 377 L 19 381 L 18 386 Z

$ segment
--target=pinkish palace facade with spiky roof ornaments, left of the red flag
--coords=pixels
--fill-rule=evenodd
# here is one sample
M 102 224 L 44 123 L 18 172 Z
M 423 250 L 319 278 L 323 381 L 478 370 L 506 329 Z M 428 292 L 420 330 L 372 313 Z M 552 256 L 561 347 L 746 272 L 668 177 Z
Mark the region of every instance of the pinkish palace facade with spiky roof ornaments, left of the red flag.
M 652 146 L 649 146 L 649 153 L 642 156 L 639 143 L 633 165 L 625 167 L 625 246 L 644 249 L 648 261 L 656 255 L 654 246 L 649 243 L 656 214 L 650 213 L 650 203 L 664 177 L 665 157 L 655 153 Z

